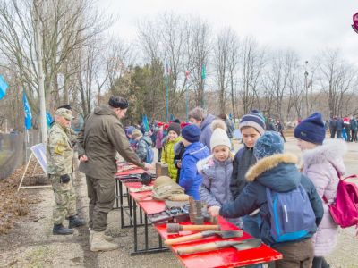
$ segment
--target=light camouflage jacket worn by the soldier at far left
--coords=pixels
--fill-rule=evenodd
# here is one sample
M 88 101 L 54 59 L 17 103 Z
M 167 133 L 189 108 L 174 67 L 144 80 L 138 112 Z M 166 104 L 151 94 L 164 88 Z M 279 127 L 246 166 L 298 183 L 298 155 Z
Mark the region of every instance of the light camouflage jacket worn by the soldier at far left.
M 54 175 L 71 174 L 73 171 L 73 148 L 70 132 L 55 122 L 48 133 L 47 173 Z

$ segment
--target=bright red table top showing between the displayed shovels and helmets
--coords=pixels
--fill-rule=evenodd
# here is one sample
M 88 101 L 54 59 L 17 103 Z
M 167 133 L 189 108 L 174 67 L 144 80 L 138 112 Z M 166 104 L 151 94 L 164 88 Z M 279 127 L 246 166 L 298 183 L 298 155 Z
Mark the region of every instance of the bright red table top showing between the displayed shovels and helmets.
M 128 171 L 117 172 L 116 175 L 128 175 L 135 173 L 145 172 L 141 168 L 134 168 Z M 124 186 L 127 188 L 141 188 L 141 182 L 123 182 Z M 151 191 L 132 193 L 130 195 L 134 200 L 138 200 L 140 197 L 150 195 Z M 136 201 L 137 204 L 143 209 L 146 214 L 155 214 L 165 210 L 165 203 L 163 201 L 154 201 L 151 197 L 145 197 L 143 200 L 146 201 Z M 192 222 L 181 222 L 180 224 L 192 224 Z M 225 219 L 218 217 L 218 224 L 221 226 L 221 230 L 239 230 L 233 223 L 227 222 Z M 158 233 L 163 239 L 173 239 L 175 237 L 192 234 L 192 231 L 185 230 L 181 231 L 179 234 L 167 234 L 166 232 L 166 223 L 164 224 L 155 224 L 155 228 L 158 230 Z M 249 239 L 251 236 L 248 233 L 243 233 L 242 238 L 230 239 L 230 240 L 242 240 Z M 247 250 L 238 251 L 234 247 L 227 247 L 220 250 L 203 252 L 198 254 L 191 255 L 177 255 L 176 251 L 181 247 L 189 247 L 200 244 L 206 244 L 209 242 L 215 242 L 223 240 L 219 237 L 210 237 L 206 239 L 199 239 L 195 241 L 185 242 L 177 245 L 171 246 L 172 251 L 176 257 L 182 262 L 184 267 L 188 268 L 197 268 L 197 267 L 235 267 L 235 266 L 245 266 L 250 264 L 260 264 L 268 263 L 282 258 L 282 255 L 277 251 L 273 250 L 271 247 L 268 247 L 262 244 L 258 248 L 252 248 Z

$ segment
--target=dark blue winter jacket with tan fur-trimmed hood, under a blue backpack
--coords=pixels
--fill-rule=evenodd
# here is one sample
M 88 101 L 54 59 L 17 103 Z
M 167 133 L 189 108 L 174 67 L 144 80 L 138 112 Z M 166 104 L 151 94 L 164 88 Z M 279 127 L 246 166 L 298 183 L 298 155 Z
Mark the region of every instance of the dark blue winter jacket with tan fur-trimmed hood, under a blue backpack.
M 260 239 L 267 245 L 273 245 L 276 242 L 270 232 L 271 216 L 268 210 L 266 188 L 271 188 L 277 192 L 286 192 L 297 188 L 301 183 L 310 198 L 313 212 L 316 215 L 316 225 L 318 226 L 323 216 L 320 196 L 317 194 L 311 180 L 297 170 L 296 163 L 298 163 L 297 156 L 291 154 L 271 155 L 262 158 L 246 173 L 246 180 L 251 183 L 243 188 L 243 192 L 235 198 L 234 202 L 226 203 L 221 207 L 220 215 L 224 217 L 241 217 L 260 208 L 262 219 Z M 316 232 L 317 226 L 303 239 L 310 238 Z

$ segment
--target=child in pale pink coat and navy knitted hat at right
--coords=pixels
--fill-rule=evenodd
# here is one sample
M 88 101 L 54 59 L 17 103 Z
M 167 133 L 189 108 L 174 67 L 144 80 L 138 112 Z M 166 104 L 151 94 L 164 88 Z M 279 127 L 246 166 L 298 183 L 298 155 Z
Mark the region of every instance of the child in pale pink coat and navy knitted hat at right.
M 324 141 L 326 130 L 320 113 L 311 114 L 297 125 L 294 137 L 303 151 L 303 174 L 316 187 L 324 209 L 322 221 L 313 236 L 315 257 L 312 267 L 329 267 L 324 256 L 329 255 L 336 247 L 338 226 L 329 214 L 328 204 L 333 203 L 336 198 L 338 174 L 345 173 L 343 155 L 347 148 L 343 139 Z

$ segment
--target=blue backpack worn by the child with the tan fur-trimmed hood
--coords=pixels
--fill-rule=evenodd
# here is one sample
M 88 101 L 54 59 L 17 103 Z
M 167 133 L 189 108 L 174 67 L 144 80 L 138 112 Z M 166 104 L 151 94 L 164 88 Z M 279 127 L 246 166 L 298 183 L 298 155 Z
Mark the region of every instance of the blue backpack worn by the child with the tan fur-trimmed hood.
M 276 242 L 303 239 L 316 229 L 316 216 L 301 184 L 288 192 L 266 188 L 266 196 L 271 215 L 271 236 Z

